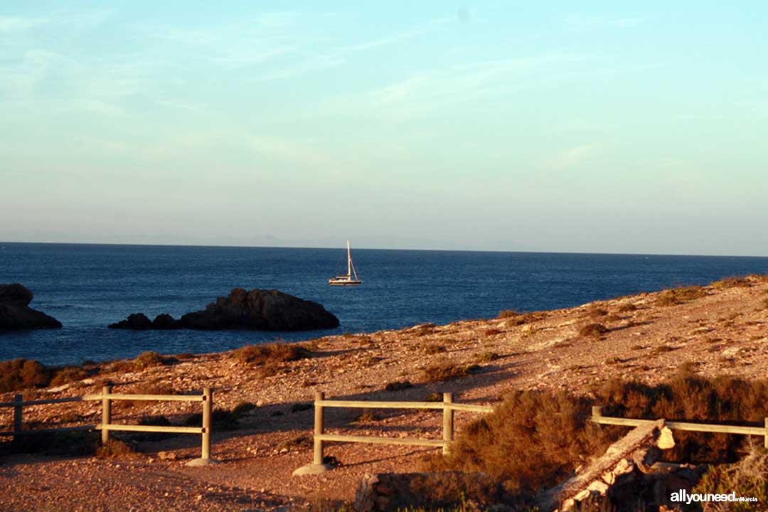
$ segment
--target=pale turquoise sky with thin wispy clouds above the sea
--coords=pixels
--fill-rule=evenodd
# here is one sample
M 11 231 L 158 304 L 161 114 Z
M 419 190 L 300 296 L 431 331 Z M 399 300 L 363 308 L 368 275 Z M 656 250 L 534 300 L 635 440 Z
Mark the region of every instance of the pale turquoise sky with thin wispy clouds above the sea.
M 768 256 L 766 25 L 765 2 L 2 2 L 0 240 Z

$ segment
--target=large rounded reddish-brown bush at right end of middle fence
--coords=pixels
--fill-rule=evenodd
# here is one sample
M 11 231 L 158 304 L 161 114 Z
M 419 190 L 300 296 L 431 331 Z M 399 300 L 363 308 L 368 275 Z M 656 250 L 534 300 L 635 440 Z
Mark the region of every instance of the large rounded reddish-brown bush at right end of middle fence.
M 515 492 L 557 484 L 612 441 L 607 429 L 587 421 L 589 408 L 587 399 L 564 392 L 513 391 L 429 468 L 490 474 Z

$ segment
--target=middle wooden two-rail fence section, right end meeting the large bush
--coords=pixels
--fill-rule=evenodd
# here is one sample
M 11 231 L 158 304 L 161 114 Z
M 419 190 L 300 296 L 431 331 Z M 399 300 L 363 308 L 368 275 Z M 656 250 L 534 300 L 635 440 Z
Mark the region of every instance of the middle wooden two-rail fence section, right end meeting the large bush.
M 422 409 L 442 410 L 442 439 L 422 438 L 383 438 L 368 435 L 326 434 L 324 410 L 326 408 L 359 408 L 359 409 Z M 492 412 L 488 405 L 470 405 L 453 403 L 452 393 L 443 393 L 442 402 L 434 401 L 358 401 L 358 400 L 327 400 L 323 391 L 315 392 L 315 431 L 314 453 L 312 464 L 300 467 L 293 472 L 300 474 L 317 474 L 326 471 L 323 465 L 324 442 L 336 441 L 343 443 L 373 443 L 373 444 L 406 444 L 409 446 L 429 446 L 442 448 L 447 454 L 453 441 L 454 411 Z

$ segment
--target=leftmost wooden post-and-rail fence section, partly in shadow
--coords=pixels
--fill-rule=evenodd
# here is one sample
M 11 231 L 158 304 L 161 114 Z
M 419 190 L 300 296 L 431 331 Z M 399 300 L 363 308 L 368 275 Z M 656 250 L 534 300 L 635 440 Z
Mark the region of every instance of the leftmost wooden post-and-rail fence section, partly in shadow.
M 73 401 L 101 401 L 101 424 L 86 424 L 76 427 L 64 428 L 41 428 L 35 430 L 24 430 L 23 412 L 25 407 L 45 404 L 64 404 Z M 112 401 L 131 400 L 131 401 L 200 401 L 203 403 L 203 424 L 201 427 L 174 427 L 161 425 L 133 425 L 112 423 Z M 211 434 L 211 416 L 214 410 L 214 393 L 210 388 L 204 388 L 202 395 L 127 395 L 123 393 L 113 393 L 111 386 L 104 386 L 100 394 L 83 395 L 72 398 L 51 398 L 48 400 L 29 400 L 24 401 L 22 395 L 15 395 L 13 401 L 0 402 L 0 408 L 13 408 L 13 430 L 0 432 L 0 436 L 13 436 L 14 440 L 23 435 L 41 434 L 47 432 L 63 431 L 101 431 L 101 442 L 109 441 L 111 431 L 131 431 L 131 432 L 165 432 L 169 434 L 200 434 L 202 439 L 202 448 L 200 458 L 190 461 L 189 465 L 202 466 L 214 463 L 210 457 L 210 434 Z

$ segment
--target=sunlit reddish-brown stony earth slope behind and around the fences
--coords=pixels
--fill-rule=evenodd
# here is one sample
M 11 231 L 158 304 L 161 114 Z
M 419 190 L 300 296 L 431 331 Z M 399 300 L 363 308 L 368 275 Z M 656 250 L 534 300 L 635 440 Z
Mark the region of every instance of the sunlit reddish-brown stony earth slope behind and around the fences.
M 315 356 L 281 363 L 267 372 L 238 362 L 231 352 L 198 355 L 178 364 L 142 372 L 109 372 L 101 378 L 121 392 L 186 392 L 215 389 L 220 408 L 240 402 L 257 405 L 237 431 L 214 434 L 214 457 L 221 464 L 185 467 L 199 456 L 199 437 L 180 436 L 141 443 L 144 454 L 131 460 L 91 457 L 0 457 L 2 510 L 262 510 L 290 507 L 319 497 L 349 500 L 362 474 L 418 471 L 429 449 L 366 444 L 330 444 L 326 454 L 342 465 L 319 476 L 291 477 L 312 458 L 313 411 L 305 404 L 316 390 L 331 398 L 425 400 L 452 391 L 455 401 L 493 404 L 511 388 L 566 389 L 589 393 L 610 378 L 660 382 L 690 362 L 702 375 L 768 374 L 768 281 L 762 277 L 727 280 L 687 292 L 644 293 L 578 308 L 535 315 L 421 325 L 371 335 L 331 336 L 307 342 Z M 598 324 L 605 329 L 584 329 Z M 588 332 L 589 331 L 589 332 Z M 605 332 L 601 332 L 605 331 Z M 429 382 L 432 365 L 479 365 L 478 372 L 445 382 Z M 386 384 L 412 382 L 412 388 L 385 391 Z M 100 390 L 86 379 L 28 398 L 58 398 Z M 12 394 L 0 395 L 9 401 Z M 119 405 L 115 420 L 135 422 L 147 415 L 184 421 L 199 405 L 146 403 Z M 360 410 L 334 410 L 331 433 L 439 438 L 439 413 L 377 411 L 353 421 Z M 25 409 L 25 421 L 53 424 L 96 423 L 101 405 L 82 402 Z M 458 428 L 476 418 L 457 413 Z M 11 411 L 0 411 L 9 428 Z M 158 451 L 171 451 L 168 460 Z

